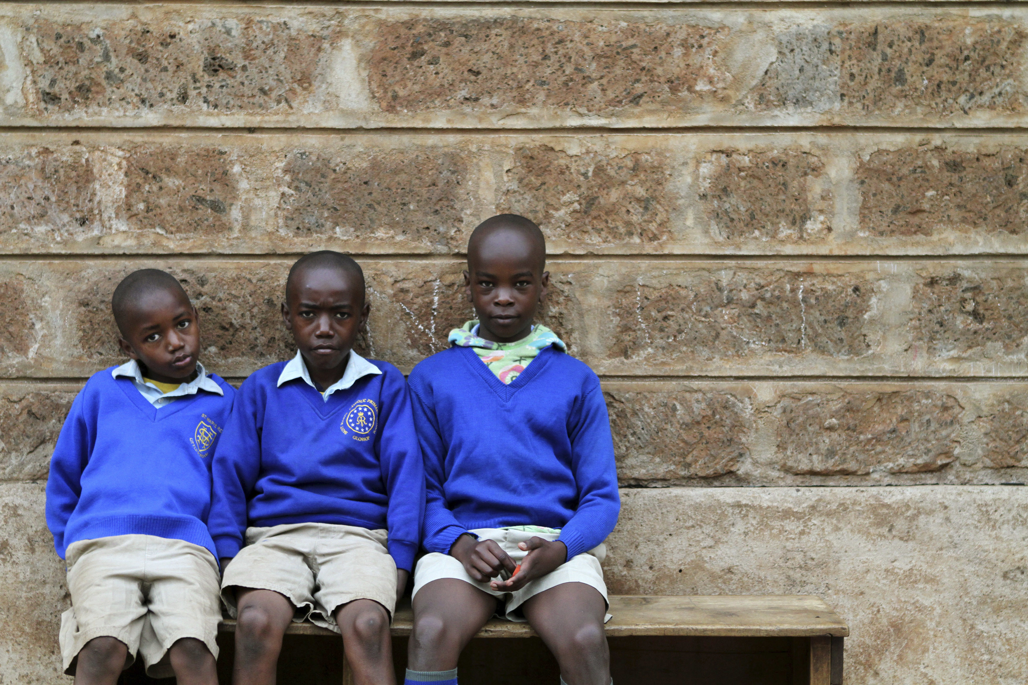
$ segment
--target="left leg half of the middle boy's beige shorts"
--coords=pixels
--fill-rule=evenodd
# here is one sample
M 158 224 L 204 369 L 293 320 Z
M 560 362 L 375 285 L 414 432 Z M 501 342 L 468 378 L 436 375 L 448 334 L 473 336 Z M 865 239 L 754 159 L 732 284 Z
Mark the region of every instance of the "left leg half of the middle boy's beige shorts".
M 247 529 L 247 545 L 224 569 L 221 599 L 238 616 L 236 588 L 270 589 L 293 605 L 294 621 L 304 620 L 315 608 L 315 572 L 308 556 L 317 543 L 306 524 Z

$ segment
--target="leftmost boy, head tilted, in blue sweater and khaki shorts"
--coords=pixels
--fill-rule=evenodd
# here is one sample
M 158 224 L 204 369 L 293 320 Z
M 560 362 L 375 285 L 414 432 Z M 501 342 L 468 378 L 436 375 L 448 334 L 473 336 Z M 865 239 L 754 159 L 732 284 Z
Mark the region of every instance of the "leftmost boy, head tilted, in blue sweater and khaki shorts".
M 147 674 L 217 685 L 218 563 L 207 529 L 211 460 L 234 390 L 197 360 L 196 310 L 179 281 L 131 273 L 111 301 L 131 357 L 72 403 L 46 482 L 46 525 L 68 565 L 65 673 L 114 685 Z

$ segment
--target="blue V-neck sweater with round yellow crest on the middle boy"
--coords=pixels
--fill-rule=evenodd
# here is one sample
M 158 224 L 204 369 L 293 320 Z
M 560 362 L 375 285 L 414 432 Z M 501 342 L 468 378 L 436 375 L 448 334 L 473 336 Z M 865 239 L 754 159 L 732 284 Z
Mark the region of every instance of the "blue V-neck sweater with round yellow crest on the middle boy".
M 425 469 L 410 392 L 391 364 L 325 401 L 286 361 L 240 387 L 214 462 L 210 526 L 234 557 L 248 526 L 326 523 L 389 529 L 397 568 L 411 570 L 425 512 Z

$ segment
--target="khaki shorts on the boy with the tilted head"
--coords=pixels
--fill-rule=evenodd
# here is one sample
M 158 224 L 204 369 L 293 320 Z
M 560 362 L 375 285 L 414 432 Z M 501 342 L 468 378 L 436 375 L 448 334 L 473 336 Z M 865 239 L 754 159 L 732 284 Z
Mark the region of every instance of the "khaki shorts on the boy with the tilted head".
M 143 655 L 151 678 L 174 675 L 168 650 L 195 638 L 218 656 L 218 562 L 204 547 L 153 535 L 73 542 L 66 554 L 71 609 L 61 616 L 65 674 L 94 638 L 128 647 L 127 669 Z

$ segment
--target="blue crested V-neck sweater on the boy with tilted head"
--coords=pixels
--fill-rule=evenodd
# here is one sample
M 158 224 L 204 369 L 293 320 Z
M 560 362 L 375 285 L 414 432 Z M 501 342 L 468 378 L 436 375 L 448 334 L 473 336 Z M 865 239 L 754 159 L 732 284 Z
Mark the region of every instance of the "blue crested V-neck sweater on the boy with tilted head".
M 112 367 L 113 368 L 113 367 Z M 72 542 L 156 535 L 215 553 L 207 529 L 211 461 L 235 390 L 157 409 L 131 378 L 101 371 L 71 405 L 46 481 L 46 525 L 62 559 Z

